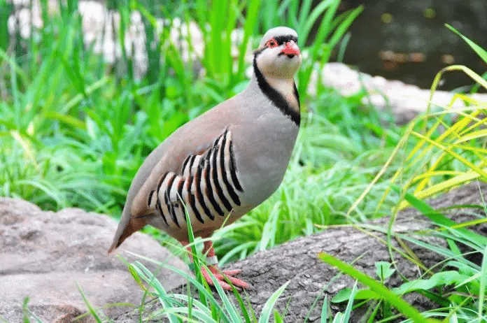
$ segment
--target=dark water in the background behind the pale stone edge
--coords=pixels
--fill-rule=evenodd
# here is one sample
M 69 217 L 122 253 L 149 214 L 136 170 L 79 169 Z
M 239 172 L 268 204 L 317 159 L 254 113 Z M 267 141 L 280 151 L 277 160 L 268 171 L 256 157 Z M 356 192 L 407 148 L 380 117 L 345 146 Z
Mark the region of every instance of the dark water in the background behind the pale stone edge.
M 480 75 L 487 71 L 470 46 L 444 27 L 451 24 L 487 49 L 487 0 L 348 0 L 341 9 L 360 4 L 365 9 L 350 29 L 344 63 L 422 88 L 429 88 L 436 73 L 451 64 Z M 465 74 L 450 72 L 441 88 L 471 84 Z

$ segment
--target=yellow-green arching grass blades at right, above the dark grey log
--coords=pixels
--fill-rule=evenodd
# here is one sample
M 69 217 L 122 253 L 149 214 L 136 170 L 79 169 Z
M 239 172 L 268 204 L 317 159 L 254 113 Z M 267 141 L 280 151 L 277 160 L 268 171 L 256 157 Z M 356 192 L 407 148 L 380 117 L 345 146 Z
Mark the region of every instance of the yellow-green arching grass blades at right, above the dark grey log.
M 447 27 L 456 31 L 453 27 L 448 25 Z M 487 52 L 468 38 L 465 39 L 481 59 L 487 62 Z M 470 76 L 479 86 L 487 89 L 486 80 L 466 66 L 447 66 L 439 71 L 432 84 L 427 113 L 416 117 L 409 124 L 395 153 L 383 167 L 385 171 L 390 162 L 399 155 L 400 150 L 407 149 L 402 155 L 404 156 L 402 167 L 393 175 L 391 182 L 404 182 L 404 174 L 412 171 L 402 187 L 404 192 L 414 188 L 413 194 L 419 199 L 434 196 L 472 180 L 487 180 L 487 173 L 484 170 L 487 163 L 485 149 L 487 132 L 484 129 L 487 123 L 485 116 L 487 104 L 465 94 L 454 94 L 449 106 L 440 107 L 442 110 L 438 112 L 431 111 L 431 99 L 439 80 L 449 71 L 461 71 Z M 453 103 L 457 100 L 462 100 L 465 108 L 453 109 Z M 414 145 L 407 146 L 409 141 L 414 142 Z M 379 175 L 382 175 L 382 172 Z M 375 181 L 369 187 L 374 183 Z M 407 205 L 408 202 L 403 201 L 400 208 Z

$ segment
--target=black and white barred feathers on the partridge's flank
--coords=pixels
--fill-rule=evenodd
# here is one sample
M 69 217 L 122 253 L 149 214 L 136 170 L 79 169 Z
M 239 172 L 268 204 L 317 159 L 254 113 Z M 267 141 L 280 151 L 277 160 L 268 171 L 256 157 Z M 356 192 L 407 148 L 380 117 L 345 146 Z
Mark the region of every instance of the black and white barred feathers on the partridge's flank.
M 162 174 L 147 203 L 157 210 L 167 227 L 181 227 L 186 221 L 183 203 L 191 219 L 204 223 L 228 215 L 235 206 L 240 206 L 243 192 L 232 133 L 225 129 L 209 150 L 188 156 L 181 173 Z

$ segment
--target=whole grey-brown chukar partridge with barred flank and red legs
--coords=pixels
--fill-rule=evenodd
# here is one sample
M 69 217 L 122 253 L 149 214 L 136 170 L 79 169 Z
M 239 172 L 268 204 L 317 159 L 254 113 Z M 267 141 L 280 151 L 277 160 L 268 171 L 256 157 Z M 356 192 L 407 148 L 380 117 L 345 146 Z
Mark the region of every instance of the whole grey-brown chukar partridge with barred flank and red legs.
M 267 31 L 246 89 L 174 131 L 143 162 L 108 252 L 146 224 L 187 246 L 185 209 L 195 236 L 209 238 L 276 191 L 299 130 L 294 75 L 301 62 L 296 31 Z M 223 288 L 231 289 L 227 280 L 248 287 L 233 277 L 238 271 L 220 271 L 211 241 L 203 252 Z

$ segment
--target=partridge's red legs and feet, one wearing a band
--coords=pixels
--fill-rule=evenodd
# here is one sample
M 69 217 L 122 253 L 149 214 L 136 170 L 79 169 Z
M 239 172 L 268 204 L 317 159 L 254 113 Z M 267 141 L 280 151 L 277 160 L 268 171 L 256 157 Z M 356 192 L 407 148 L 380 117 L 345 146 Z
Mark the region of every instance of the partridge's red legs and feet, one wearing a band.
M 188 245 L 188 242 L 181 241 L 181 244 Z M 186 247 L 188 250 L 188 256 L 190 257 L 190 261 L 192 261 L 192 250 L 191 247 Z M 216 258 L 215 250 L 213 250 L 213 243 L 211 241 L 205 241 L 203 247 L 203 254 L 206 254 L 206 266 L 208 266 L 209 270 L 215 276 L 216 280 L 218 280 L 218 284 L 226 290 L 232 290 L 232 287 L 227 283 L 227 279 L 230 280 L 232 285 L 235 287 L 240 287 L 242 289 L 248 288 L 248 283 L 244 282 L 243 280 L 239 280 L 238 278 L 234 278 L 234 275 L 240 273 L 239 270 L 237 271 L 222 271 L 218 267 L 218 259 Z M 209 285 L 213 286 L 213 280 L 211 280 L 210 275 L 206 272 L 206 269 L 202 268 L 202 275 L 206 282 Z

